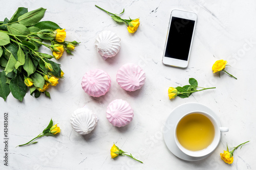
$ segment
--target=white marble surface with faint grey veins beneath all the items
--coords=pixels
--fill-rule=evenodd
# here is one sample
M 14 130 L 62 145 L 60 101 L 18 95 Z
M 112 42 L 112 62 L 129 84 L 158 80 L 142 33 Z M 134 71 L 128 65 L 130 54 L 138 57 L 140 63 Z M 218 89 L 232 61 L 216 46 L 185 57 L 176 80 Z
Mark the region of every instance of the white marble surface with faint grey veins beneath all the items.
M 256 149 L 255 1 L 1 0 L 0 3 L 0 20 L 10 18 L 18 7 L 27 7 L 29 11 L 47 8 L 42 20 L 58 23 L 66 29 L 67 40 L 81 42 L 74 56 L 65 54 L 58 61 L 66 78 L 49 89 L 50 100 L 44 95 L 34 99 L 29 93 L 23 102 L 11 94 L 6 102 L 0 99 L 1 169 L 256 169 L 253 154 Z M 124 18 L 140 17 L 138 31 L 130 34 L 126 26 L 117 24 L 94 7 L 95 4 L 114 13 L 125 8 Z M 173 9 L 198 15 L 191 60 L 186 69 L 167 67 L 161 62 Z M 121 38 L 120 52 L 106 61 L 94 48 L 95 38 L 103 30 L 111 30 Z M 231 67 L 227 67 L 227 71 L 238 80 L 212 74 L 211 66 L 219 59 L 228 61 Z M 140 65 L 146 72 L 144 86 L 135 92 L 124 91 L 115 80 L 118 68 L 127 62 Z M 108 72 L 112 84 L 104 96 L 92 98 L 84 93 L 80 83 L 85 72 L 96 68 Z M 190 77 L 197 79 L 199 86 L 217 88 L 194 93 L 187 99 L 169 101 L 168 87 L 186 85 Z M 117 128 L 106 119 L 106 107 L 115 99 L 126 100 L 133 107 L 135 115 L 129 126 Z M 170 111 L 189 102 L 208 106 L 219 116 L 221 124 L 229 127 L 216 151 L 197 162 L 186 162 L 174 156 L 162 135 Z M 84 105 L 96 112 L 99 121 L 94 131 L 83 137 L 72 129 L 70 116 Z M 8 167 L 3 162 L 4 112 L 9 112 Z M 61 128 L 56 138 L 42 137 L 34 145 L 15 148 L 38 135 L 51 118 Z M 226 143 L 231 147 L 247 140 L 250 142 L 234 152 L 233 164 L 220 159 Z M 144 163 L 128 157 L 111 159 L 113 142 Z

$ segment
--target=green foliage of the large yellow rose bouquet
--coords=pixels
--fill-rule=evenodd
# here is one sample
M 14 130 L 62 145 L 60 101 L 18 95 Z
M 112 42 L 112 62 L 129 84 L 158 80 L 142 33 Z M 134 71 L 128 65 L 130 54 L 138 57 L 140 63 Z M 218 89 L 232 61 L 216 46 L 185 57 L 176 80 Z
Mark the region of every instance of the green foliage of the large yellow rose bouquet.
M 49 92 L 39 90 L 45 84 L 44 76 L 62 78 L 60 65 L 50 60 L 53 56 L 38 51 L 41 45 L 51 49 L 51 45 L 44 41 L 67 47 L 67 41 L 60 43 L 54 39 L 53 31 L 61 29 L 56 23 L 40 21 L 45 11 L 38 8 L 28 12 L 27 8 L 20 7 L 10 19 L 0 21 L 0 67 L 3 69 L 0 72 L 0 96 L 5 101 L 10 92 L 22 101 L 28 88 L 35 98 L 41 93 L 50 98 Z M 67 48 L 65 51 L 70 54 Z M 47 69 L 46 63 L 52 68 Z M 26 78 L 32 80 L 33 86 L 25 85 Z

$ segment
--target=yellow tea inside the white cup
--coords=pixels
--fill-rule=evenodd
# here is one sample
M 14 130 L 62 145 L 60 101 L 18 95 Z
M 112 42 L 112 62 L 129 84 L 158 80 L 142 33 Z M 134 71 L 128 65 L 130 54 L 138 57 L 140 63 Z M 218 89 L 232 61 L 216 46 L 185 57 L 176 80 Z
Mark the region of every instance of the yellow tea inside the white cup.
M 215 129 L 208 117 L 193 113 L 181 119 L 176 133 L 184 148 L 190 151 L 200 151 L 207 148 L 214 140 Z

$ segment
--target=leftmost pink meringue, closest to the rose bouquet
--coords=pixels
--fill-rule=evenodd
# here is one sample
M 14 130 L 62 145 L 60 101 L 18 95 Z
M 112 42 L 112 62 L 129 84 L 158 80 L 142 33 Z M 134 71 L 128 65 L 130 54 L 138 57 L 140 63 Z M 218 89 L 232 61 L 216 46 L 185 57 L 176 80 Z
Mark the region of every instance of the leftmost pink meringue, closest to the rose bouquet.
M 82 77 L 82 89 L 89 95 L 99 97 L 109 91 L 111 80 L 101 69 L 90 70 Z

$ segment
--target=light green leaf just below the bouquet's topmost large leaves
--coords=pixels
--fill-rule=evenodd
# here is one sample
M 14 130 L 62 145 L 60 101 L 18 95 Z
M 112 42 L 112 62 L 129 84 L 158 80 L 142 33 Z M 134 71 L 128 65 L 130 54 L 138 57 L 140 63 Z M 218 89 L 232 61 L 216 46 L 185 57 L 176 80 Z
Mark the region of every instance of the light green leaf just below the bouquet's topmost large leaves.
M 26 40 L 27 37 L 23 36 L 30 34 L 29 29 L 20 23 L 12 23 L 11 25 L 7 25 L 7 27 L 8 32 L 17 36 L 20 40 Z

